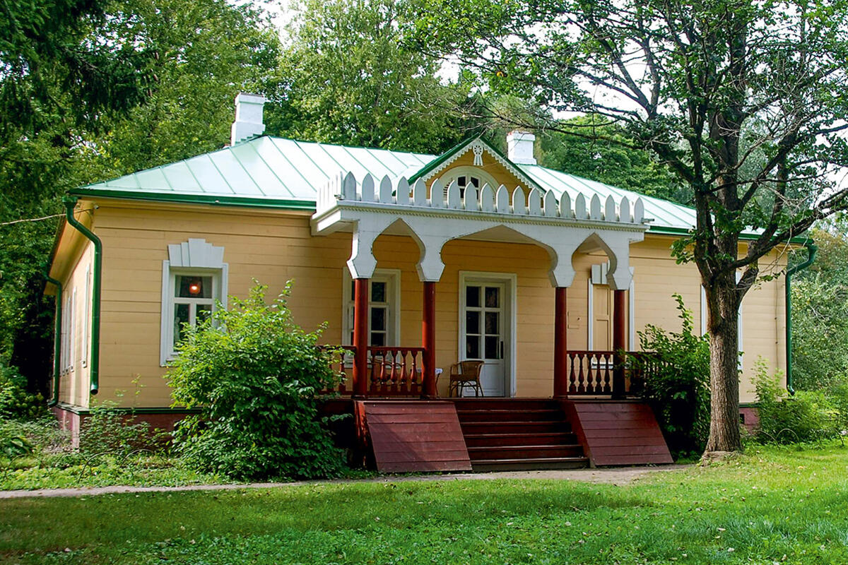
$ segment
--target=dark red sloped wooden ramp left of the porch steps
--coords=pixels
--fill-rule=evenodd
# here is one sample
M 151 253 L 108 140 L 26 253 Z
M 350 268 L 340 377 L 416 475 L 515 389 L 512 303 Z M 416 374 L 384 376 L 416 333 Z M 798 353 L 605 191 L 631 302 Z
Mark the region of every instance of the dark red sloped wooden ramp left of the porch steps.
M 471 471 L 453 402 L 356 401 L 354 414 L 382 473 Z

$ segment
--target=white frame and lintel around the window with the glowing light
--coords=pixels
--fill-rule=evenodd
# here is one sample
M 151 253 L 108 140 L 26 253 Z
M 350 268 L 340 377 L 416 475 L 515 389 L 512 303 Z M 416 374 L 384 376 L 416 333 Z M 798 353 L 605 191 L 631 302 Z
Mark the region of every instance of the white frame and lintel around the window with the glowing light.
M 217 304 L 226 308 L 229 265 L 224 263 L 224 247 L 203 239 L 189 239 L 168 246 L 168 259 L 162 262 L 162 313 L 159 330 L 159 365 L 165 367 L 176 357 L 174 351 L 174 307 L 178 303 L 209 304 L 209 298 L 178 298 L 176 277 L 212 277 L 212 312 Z M 189 324 L 195 323 L 195 310 L 189 310 Z

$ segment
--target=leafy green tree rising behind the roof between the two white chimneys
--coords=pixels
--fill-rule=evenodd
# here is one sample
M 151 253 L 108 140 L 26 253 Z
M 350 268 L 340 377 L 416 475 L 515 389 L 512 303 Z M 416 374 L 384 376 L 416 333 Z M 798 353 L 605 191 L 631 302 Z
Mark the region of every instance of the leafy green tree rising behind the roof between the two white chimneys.
M 363 147 L 438 152 L 470 134 L 449 113 L 467 90 L 437 58 L 400 42 L 404 3 L 299 0 L 265 94 L 267 133 Z

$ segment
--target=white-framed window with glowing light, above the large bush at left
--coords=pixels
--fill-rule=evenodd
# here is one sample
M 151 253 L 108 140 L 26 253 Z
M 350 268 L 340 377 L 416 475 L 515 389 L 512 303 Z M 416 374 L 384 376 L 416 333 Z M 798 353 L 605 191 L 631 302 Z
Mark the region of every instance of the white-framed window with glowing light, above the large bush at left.
M 186 326 L 209 319 L 218 302 L 226 307 L 227 264 L 224 248 L 191 239 L 168 246 L 162 262 L 162 328 L 160 364 L 175 356 Z

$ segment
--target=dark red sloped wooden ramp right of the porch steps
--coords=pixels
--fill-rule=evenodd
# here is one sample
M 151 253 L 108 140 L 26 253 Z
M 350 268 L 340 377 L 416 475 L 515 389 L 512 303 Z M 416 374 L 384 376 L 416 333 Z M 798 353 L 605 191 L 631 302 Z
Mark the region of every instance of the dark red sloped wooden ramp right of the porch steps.
M 673 463 L 653 411 L 644 402 L 564 402 L 583 451 L 594 466 Z

